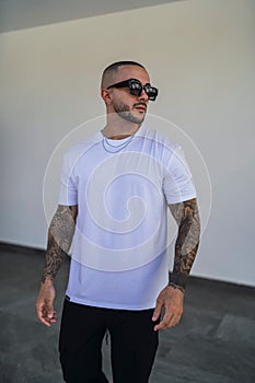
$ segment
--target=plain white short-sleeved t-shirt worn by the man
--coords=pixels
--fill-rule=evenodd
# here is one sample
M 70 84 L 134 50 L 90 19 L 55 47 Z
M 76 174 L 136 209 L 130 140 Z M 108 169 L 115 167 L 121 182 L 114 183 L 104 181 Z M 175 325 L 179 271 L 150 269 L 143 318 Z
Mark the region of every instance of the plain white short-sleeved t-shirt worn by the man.
M 67 295 L 98 307 L 146 310 L 167 285 L 167 204 L 196 197 L 182 148 L 144 126 L 101 132 L 63 156 L 59 204 L 78 205 Z

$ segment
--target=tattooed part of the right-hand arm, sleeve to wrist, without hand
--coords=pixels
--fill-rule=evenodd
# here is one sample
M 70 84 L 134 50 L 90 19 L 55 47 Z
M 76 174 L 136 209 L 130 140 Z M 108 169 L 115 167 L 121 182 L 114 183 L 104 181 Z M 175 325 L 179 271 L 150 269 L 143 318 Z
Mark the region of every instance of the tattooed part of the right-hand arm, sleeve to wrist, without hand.
M 170 285 L 185 291 L 186 282 L 197 254 L 200 236 L 200 219 L 196 198 L 170 205 L 178 225 L 175 242 L 174 267 Z

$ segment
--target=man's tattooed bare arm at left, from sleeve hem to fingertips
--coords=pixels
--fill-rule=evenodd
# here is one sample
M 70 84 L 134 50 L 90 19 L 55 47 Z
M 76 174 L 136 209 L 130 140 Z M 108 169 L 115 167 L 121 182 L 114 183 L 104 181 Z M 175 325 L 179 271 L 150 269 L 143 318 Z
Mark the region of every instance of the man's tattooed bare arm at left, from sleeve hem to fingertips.
M 57 320 L 53 306 L 55 299 L 53 282 L 71 246 L 77 213 L 77 206 L 58 206 L 49 227 L 46 262 L 35 304 L 37 317 L 46 326 L 50 326 Z

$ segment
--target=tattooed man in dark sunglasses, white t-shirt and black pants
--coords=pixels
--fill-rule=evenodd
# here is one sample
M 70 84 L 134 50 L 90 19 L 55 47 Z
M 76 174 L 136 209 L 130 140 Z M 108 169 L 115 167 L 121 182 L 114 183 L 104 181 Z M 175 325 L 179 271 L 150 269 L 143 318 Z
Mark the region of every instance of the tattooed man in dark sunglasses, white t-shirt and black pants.
M 106 126 L 63 158 L 36 312 L 46 326 L 56 322 L 54 278 L 74 233 L 59 340 L 63 379 L 107 382 L 101 347 L 108 332 L 114 383 L 146 383 L 159 330 L 183 313 L 199 242 L 196 193 L 181 148 L 142 124 L 158 95 L 144 67 L 111 65 L 101 95 Z M 170 280 L 167 206 L 178 225 Z

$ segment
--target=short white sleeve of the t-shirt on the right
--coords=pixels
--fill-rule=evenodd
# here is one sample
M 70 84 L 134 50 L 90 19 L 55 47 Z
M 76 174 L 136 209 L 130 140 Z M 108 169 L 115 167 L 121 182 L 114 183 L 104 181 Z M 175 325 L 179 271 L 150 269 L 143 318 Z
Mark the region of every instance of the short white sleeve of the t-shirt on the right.
M 167 204 L 178 204 L 196 197 L 196 189 L 183 149 L 167 151 L 164 166 L 163 193 Z

